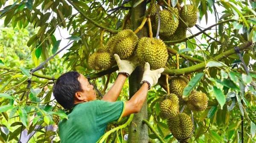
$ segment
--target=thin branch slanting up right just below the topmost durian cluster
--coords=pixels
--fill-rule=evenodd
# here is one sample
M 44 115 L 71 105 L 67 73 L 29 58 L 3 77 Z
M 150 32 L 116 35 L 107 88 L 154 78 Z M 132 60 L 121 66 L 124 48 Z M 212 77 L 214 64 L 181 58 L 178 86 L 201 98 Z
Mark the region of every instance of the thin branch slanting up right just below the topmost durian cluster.
M 248 15 L 248 16 L 245 16 L 245 17 L 253 17 L 253 15 Z M 224 20 L 224 21 L 218 22 L 218 23 L 216 23 L 216 24 L 214 24 L 214 25 L 211 25 L 211 26 L 209 26 L 208 28 L 205 28 L 204 30 L 198 32 L 197 34 L 194 34 L 194 35 L 192 35 L 192 36 L 186 37 L 186 38 L 184 38 L 184 39 L 180 39 L 180 40 L 176 40 L 176 41 L 165 41 L 165 43 L 172 45 L 172 44 L 176 44 L 176 43 L 185 42 L 186 40 L 192 39 L 192 38 L 194 38 L 195 36 L 198 36 L 198 35 L 204 33 L 205 31 L 210 30 L 212 27 L 214 27 L 214 26 L 216 26 L 216 25 L 220 25 L 220 24 L 227 23 L 227 22 L 230 22 L 230 21 L 234 21 L 234 19 L 228 19 L 228 20 Z

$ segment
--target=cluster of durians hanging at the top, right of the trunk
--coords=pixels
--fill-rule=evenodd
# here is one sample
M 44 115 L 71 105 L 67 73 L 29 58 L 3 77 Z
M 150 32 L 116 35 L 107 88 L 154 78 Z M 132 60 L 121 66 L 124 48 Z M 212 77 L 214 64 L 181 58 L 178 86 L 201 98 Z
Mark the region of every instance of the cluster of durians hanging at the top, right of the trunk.
M 181 4 L 183 0 L 179 0 Z M 161 3 L 161 1 L 159 2 Z M 175 41 L 186 38 L 187 28 L 193 27 L 197 20 L 197 9 L 193 5 L 184 5 L 178 11 L 177 8 L 165 8 L 160 10 L 160 5 L 153 4 L 151 8 L 151 20 L 153 32 L 157 32 L 158 16 L 160 14 L 159 36 L 164 41 Z

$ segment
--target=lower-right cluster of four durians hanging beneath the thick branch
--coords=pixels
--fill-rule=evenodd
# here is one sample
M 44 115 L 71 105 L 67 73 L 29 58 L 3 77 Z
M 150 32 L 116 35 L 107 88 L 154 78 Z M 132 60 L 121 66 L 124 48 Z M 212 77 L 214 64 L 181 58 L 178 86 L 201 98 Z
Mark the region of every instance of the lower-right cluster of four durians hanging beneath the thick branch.
M 208 98 L 205 93 L 193 90 L 187 98 L 183 98 L 183 90 L 189 80 L 184 76 L 171 76 L 166 84 L 165 78 L 159 79 L 159 84 L 166 89 L 169 86 L 170 94 L 160 97 L 160 116 L 167 119 L 172 135 L 181 142 L 187 142 L 193 133 L 192 118 L 186 113 L 180 113 L 179 108 L 187 105 L 192 111 L 204 111 L 207 108 Z M 181 105 L 181 106 L 180 106 Z

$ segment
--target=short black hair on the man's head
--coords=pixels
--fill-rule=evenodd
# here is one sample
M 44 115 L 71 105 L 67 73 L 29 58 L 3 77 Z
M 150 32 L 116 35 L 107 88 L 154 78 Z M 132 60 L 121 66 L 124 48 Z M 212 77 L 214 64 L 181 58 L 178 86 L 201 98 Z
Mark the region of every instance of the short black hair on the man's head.
M 80 74 L 76 71 L 64 73 L 53 86 L 55 99 L 65 109 L 71 109 L 74 106 L 76 92 L 83 91 L 78 81 L 79 76 Z

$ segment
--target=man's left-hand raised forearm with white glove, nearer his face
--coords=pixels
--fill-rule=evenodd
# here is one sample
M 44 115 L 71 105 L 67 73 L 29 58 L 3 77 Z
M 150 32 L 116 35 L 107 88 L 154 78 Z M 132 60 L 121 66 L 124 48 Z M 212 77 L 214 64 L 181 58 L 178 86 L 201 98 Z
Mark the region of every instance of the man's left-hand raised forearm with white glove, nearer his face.
M 119 67 L 119 74 L 116 78 L 115 83 L 111 87 L 111 89 L 102 98 L 102 100 L 110 101 L 110 102 L 116 101 L 116 99 L 121 93 L 125 80 L 127 79 L 128 76 L 131 75 L 131 73 L 134 71 L 134 69 L 137 67 L 137 64 L 138 64 L 136 60 L 134 61 L 121 60 L 117 54 L 115 54 L 114 57 Z

